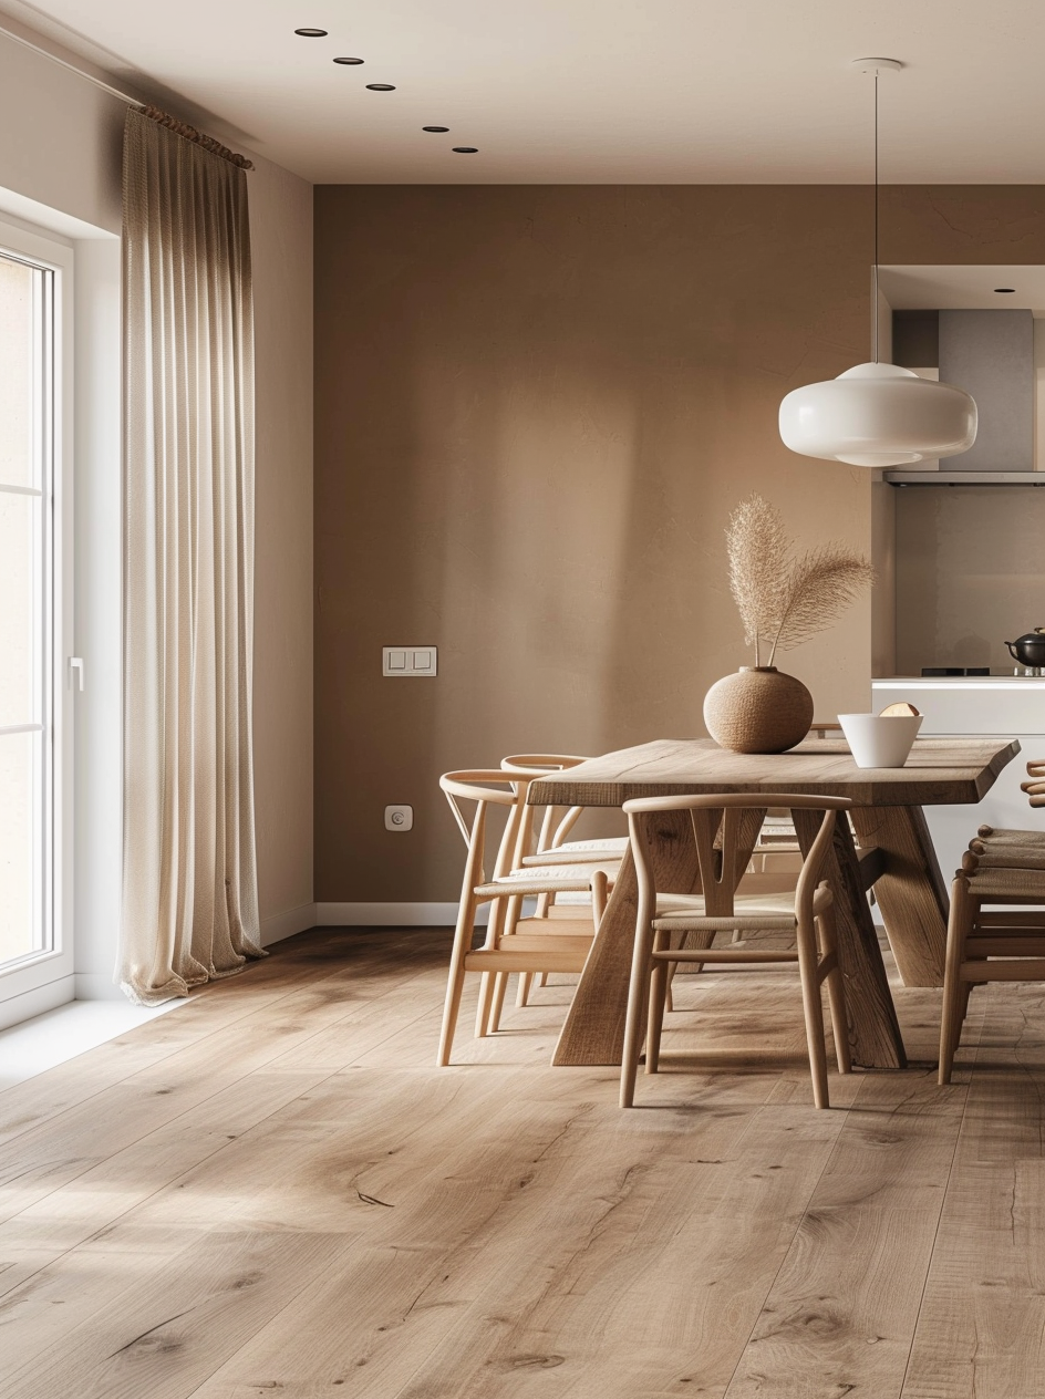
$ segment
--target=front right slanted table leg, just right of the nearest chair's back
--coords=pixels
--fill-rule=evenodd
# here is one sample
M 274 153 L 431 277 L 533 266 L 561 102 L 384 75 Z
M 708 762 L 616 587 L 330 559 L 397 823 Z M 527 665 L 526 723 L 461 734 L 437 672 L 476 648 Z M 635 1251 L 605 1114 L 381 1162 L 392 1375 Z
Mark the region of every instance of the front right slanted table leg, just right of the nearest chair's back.
M 807 852 L 820 830 L 820 816 L 800 807 L 793 816 L 799 844 Z M 838 961 L 845 981 L 852 1060 L 865 1069 L 905 1069 L 907 1053 L 897 1007 L 888 989 L 849 823 L 844 818 L 835 821 L 827 876 L 835 895 Z

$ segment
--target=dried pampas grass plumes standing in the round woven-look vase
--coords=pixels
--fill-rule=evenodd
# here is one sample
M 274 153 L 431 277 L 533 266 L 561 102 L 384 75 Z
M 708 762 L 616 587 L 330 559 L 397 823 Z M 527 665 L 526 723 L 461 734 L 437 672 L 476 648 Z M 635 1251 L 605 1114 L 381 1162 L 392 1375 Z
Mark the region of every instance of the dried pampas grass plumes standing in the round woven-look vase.
M 726 530 L 729 586 L 744 624 L 744 639 L 761 665 L 824 631 L 874 581 L 863 554 L 844 544 L 823 544 L 790 558 L 779 511 L 751 495 L 733 512 Z

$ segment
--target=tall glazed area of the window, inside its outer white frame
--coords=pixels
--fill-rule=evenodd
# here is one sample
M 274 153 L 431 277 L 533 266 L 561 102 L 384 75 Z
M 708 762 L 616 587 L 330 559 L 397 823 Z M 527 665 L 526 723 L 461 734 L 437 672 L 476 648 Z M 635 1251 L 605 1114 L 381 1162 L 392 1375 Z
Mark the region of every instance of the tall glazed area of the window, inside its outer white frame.
M 10 234 L 10 238 L 8 238 Z M 0 228 L 0 977 L 60 956 L 62 266 Z M 59 255 L 62 249 L 57 249 Z M 24 978 L 18 989 L 24 989 Z M 4 992 L 0 990 L 0 995 Z

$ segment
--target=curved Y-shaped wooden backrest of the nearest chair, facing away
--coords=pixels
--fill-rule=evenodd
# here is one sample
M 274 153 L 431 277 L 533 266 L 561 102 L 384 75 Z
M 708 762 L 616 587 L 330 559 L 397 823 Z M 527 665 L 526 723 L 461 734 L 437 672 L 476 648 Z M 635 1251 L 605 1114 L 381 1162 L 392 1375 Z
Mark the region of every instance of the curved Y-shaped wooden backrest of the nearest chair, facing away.
M 648 907 L 652 907 L 651 901 L 656 898 L 657 893 L 649 851 L 649 827 L 659 814 L 688 811 L 697 845 L 705 914 L 709 918 L 730 918 L 736 888 L 747 869 L 750 848 L 758 835 L 767 809 L 810 810 L 820 811 L 823 816 L 816 839 L 802 862 L 795 891 L 796 908 L 809 914 L 813 908 L 813 894 L 824 860 L 831 848 L 835 813 L 851 806 L 848 797 L 802 796 L 792 792 L 758 793 L 757 800 L 751 793 L 729 792 L 706 796 L 638 797 L 625 802 L 624 810 L 628 814 L 631 830 L 639 897 Z

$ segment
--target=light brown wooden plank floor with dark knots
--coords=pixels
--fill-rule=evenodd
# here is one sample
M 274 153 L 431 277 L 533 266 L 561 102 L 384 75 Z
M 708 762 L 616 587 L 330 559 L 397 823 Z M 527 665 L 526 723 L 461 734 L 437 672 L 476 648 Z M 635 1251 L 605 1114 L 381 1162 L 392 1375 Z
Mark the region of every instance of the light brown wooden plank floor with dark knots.
M 446 932 L 318 930 L 0 1094 L 3 1399 L 1041 1399 L 1045 995 L 811 1107 L 786 971 L 664 1073 L 550 1069 L 567 978 L 432 1067 Z

